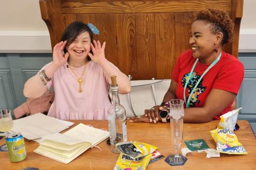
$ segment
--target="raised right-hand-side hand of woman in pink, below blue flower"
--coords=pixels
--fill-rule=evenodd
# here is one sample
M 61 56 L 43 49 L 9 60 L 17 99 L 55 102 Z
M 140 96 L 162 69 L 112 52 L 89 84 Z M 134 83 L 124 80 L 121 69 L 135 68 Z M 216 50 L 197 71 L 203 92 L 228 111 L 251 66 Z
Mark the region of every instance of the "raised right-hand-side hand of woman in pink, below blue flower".
M 93 46 L 93 44 L 94 44 L 94 46 Z M 100 62 L 102 62 L 106 59 L 105 58 L 106 42 L 104 42 L 101 46 L 99 40 L 98 41 L 93 40 L 93 44 L 90 43 L 93 54 L 89 53 L 88 55 L 93 62 L 100 64 Z

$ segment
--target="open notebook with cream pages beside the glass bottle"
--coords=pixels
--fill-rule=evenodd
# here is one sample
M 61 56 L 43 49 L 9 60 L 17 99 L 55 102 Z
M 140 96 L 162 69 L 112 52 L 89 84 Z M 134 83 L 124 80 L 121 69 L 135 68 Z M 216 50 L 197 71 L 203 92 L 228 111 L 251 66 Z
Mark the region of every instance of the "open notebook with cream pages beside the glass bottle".
M 43 137 L 45 140 L 34 152 L 68 164 L 108 137 L 109 132 L 80 123 L 63 134 L 54 133 Z

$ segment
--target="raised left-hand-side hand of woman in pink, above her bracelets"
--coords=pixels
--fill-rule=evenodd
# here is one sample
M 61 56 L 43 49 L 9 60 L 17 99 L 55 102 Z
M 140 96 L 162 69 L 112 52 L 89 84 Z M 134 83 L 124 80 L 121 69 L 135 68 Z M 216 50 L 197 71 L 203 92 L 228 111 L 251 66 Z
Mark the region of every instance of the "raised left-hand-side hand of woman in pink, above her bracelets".
M 67 41 L 60 41 L 53 48 L 53 63 L 59 68 L 66 64 L 68 60 L 69 53 L 63 55 L 63 49 L 66 47 Z

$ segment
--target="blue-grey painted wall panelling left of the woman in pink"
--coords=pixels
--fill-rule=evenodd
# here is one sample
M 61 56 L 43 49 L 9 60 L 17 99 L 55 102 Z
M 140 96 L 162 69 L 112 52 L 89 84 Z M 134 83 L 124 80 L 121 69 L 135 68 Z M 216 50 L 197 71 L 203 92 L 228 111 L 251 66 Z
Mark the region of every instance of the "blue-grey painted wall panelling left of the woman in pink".
M 24 103 L 25 82 L 51 61 L 52 54 L 0 54 L 0 107 L 13 110 Z

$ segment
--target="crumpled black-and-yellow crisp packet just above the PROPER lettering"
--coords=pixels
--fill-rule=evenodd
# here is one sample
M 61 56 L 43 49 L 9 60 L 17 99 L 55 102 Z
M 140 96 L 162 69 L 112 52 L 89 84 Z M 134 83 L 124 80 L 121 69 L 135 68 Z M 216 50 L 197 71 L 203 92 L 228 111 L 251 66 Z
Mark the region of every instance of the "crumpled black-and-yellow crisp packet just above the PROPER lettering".
M 130 156 L 132 159 L 152 154 L 157 149 L 157 147 L 153 145 L 137 141 L 118 143 L 116 147 L 123 154 Z

